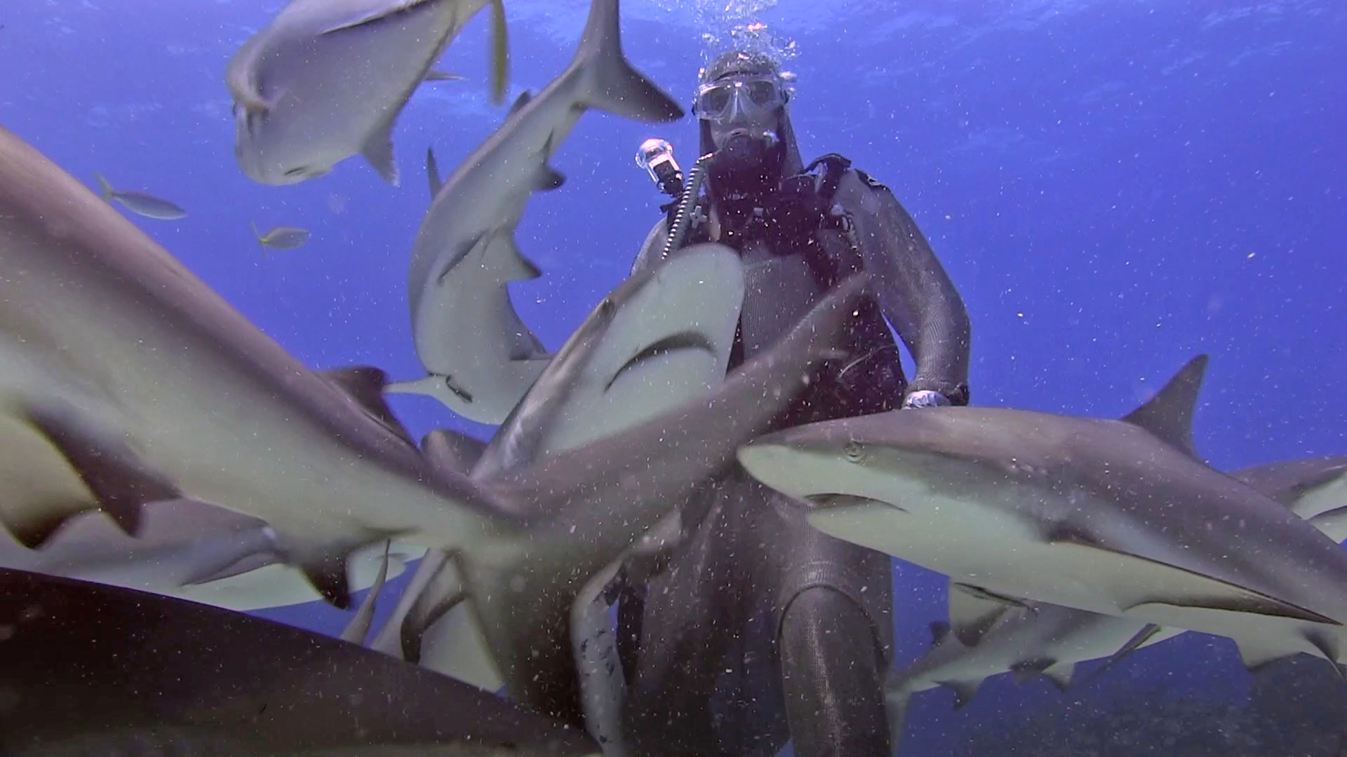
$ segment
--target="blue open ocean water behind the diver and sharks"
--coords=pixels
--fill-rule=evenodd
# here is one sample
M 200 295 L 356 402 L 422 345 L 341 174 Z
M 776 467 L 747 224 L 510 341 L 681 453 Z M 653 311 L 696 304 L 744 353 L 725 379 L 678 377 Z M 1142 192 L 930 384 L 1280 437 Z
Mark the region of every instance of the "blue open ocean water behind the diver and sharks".
M 537 90 L 568 61 L 587 3 L 506 4 L 512 85 Z M 234 164 L 222 77 L 282 5 L 8 0 L 0 124 L 90 186 L 97 171 L 187 209 L 180 221 L 133 220 L 306 364 L 418 376 L 405 277 L 428 203 L 420 162 L 434 145 L 454 166 L 504 117 L 486 100 L 486 15 L 439 66 L 465 81 L 423 86 L 399 121 L 401 186 L 357 158 L 269 187 Z M 806 158 L 841 152 L 886 183 L 959 287 L 975 404 L 1122 415 L 1207 352 L 1196 439 L 1212 465 L 1347 447 L 1347 5 L 761 5 L 752 19 L 789 46 L 784 65 L 799 75 Z M 624 4 L 629 58 L 684 101 L 709 44 L 723 44 L 706 35 L 725 32 L 715 12 L 694 11 Z M 632 159 L 649 136 L 684 164 L 695 156 L 691 119 L 653 128 L 590 113 L 555 160 L 564 189 L 529 205 L 519 242 L 544 276 L 513 292 L 548 348 L 625 277 L 659 217 Z M 249 221 L 303 226 L 313 241 L 264 257 Z M 392 404 L 416 436 L 489 432 L 430 399 Z M 901 563 L 894 581 L 904 664 L 944 613 L 944 582 Z M 321 605 L 260 614 L 327 633 L 346 618 Z M 1250 684 L 1233 644 L 1185 634 L 1086 691 L 991 680 L 958 713 L 947 692 L 921 695 L 901 753 L 954 754 L 971 730 L 1064 699 L 1106 707 L 1160 687 L 1238 703 Z

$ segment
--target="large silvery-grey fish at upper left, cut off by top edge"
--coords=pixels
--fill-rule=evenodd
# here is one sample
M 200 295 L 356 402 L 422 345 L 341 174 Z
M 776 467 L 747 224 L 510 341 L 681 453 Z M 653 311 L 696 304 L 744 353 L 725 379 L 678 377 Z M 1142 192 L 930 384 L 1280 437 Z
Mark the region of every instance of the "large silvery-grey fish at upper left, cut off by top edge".
M 225 71 L 238 167 L 256 182 L 291 185 L 364 155 L 396 185 L 397 116 L 488 1 L 291 0 Z M 502 94 L 505 18 L 501 0 L 490 1 L 496 92 Z

